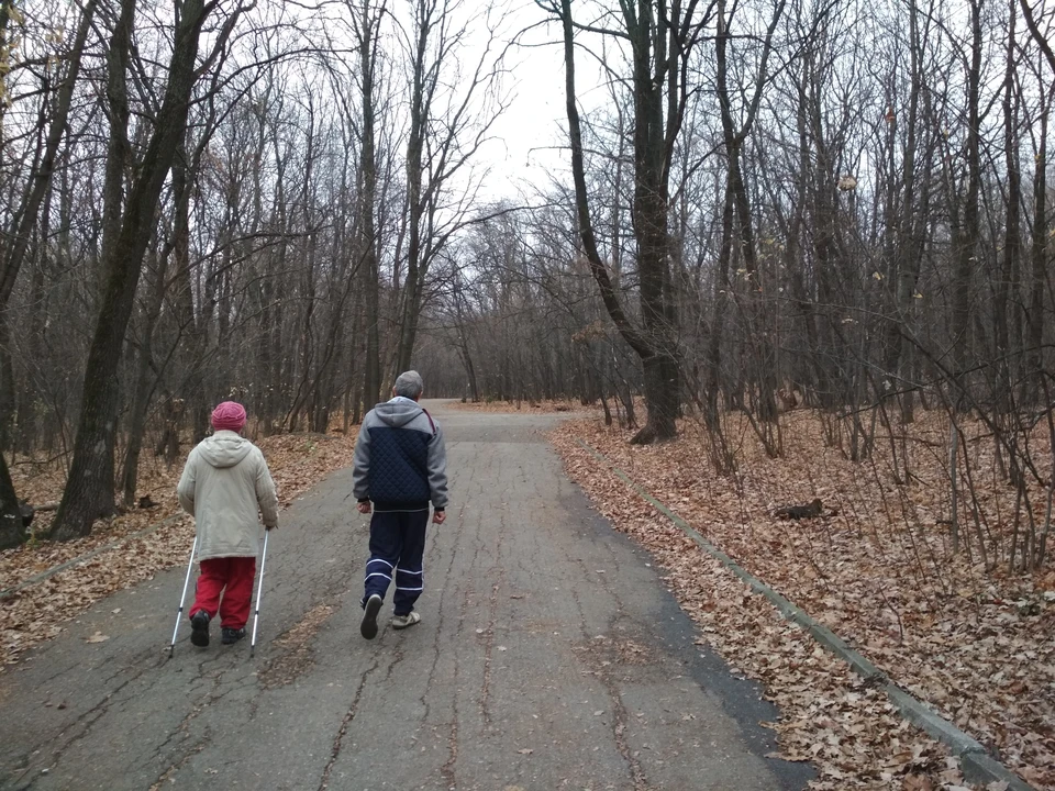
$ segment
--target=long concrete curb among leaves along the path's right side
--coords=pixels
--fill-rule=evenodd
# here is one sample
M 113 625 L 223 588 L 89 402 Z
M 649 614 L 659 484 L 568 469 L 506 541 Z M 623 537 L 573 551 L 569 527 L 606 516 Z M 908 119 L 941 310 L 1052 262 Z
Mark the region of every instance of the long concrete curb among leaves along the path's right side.
M 1035 791 L 1032 786 L 1024 782 L 1018 775 L 993 759 L 981 743 L 965 734 L 929 705 L 917 700 L 898 687 L 886 673 L 851 648 L 839 635 L 823 624 L 814 621 L 804 610 L 792 604 L 773 588 L 741 567 L 735 560 L 729 557 L 729 555 L 700 535 L 688 522 L 652 497 L 644 487 L 640 486 L 630 476 L 619 469 L 619 467 L 613 465 L 603 454 L 590 447 L 581 439 L 576 439 L 576 442 L 612 470 L 620 480 L 647 500 L 659 513 L 680 527 L 703 552 L 740 577 L 752 591 L 760 593 L 768 599 L 787 621 L 802 626 L 818 643 L 849 665 L 854 672 L 866 681 L 881 686 L 890 699 L 890 702 L 893 703 L 901 713 L 901 716 L 952 749 L 953 755 L 959 759 L 964 778 L 966 778 L 968 782 L 981 786 L 992 782 L 1003 782 L 1007 783 L 1009 791 Z

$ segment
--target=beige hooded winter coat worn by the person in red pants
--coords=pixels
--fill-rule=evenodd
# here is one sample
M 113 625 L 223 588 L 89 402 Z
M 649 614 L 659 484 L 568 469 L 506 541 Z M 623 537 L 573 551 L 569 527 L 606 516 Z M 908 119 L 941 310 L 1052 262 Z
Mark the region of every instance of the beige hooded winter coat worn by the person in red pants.
M 190 452 L 176 493 L 195 517 L 201 560 L 258 555 L 257 512 L 266 526 L 278 526 L 278 498 L 264 454 L 232 431 L 218 431 Z

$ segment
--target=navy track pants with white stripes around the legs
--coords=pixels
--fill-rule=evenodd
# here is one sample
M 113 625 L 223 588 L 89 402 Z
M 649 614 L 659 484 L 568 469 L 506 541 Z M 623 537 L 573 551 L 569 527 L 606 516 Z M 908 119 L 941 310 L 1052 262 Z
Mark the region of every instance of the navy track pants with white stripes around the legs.
M 423 511 L 375 511 L 370 520 L 370 559 L 366 561 L 363 602 L 377 593 L 381 599 L 388 583 L 396 579 L 392 602 L 397 615 L 407 615 L 424 587 L 422 556 L 425 553 Z

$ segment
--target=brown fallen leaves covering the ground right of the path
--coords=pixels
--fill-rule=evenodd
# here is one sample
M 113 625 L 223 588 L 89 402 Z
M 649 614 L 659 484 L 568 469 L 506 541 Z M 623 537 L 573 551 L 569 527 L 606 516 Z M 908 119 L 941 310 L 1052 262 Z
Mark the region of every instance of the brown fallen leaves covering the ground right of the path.
M 765 684 L 781 711 L 773 727 L 782 757 L 819 769 L 811 788 L 966 783 L 947 748 L 752 594 L 578 439 L 1024 780 L 1055 789 L 1055 595 L 1043 595 L 1055 590 L 1055 573 L 987 573 L 965 553 L 952 556 L 941 530 L 947 472 L 940 453 L 915 453 L 919 486 L 898 487 L 877 466 L 826 447 L 815 416 L 802 411 L 784 420 L 784 458 L 768 458 L 741 432 L 735 480 L 710 467 L 703 432 L 691 421 L 676 441 L 653 446 L 632 446 L 630 432 L 597 419 L 565 422 L 551 438 L 597 508 L 655 555 L 706 645 Z M 926 441 L 921 449 L 940 446 L 943 431 L 947 436 L 925 422 L 914 431 Z M 837 514 L 790 523 L 773 516 L 814 497 Z M 1009 510 L 1007 492 L 982 498 L 997 525 L 997 512 Z

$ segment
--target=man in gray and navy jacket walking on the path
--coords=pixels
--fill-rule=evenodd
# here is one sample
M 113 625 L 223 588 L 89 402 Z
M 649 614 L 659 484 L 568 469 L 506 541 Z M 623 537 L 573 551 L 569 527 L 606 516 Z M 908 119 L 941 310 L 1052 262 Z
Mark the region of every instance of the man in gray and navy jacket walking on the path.
M 414 602 L 424 587 L 422 556 L 430 501 L 432 521 L 443 524 L 445 517 L 447 452 L 438 424 L 418 404 L 422 389 L 418 371 L 400 374 L 392 400 L 367 413 L 355 445 L 353 492 L 359 513 L 370 513 L 374 502 L 359 624 L 367 639 L 377 635 L 377 614 L 393 577 L 392 627 L 407 628 L 421 621 Z

